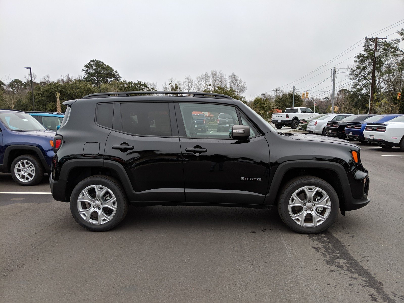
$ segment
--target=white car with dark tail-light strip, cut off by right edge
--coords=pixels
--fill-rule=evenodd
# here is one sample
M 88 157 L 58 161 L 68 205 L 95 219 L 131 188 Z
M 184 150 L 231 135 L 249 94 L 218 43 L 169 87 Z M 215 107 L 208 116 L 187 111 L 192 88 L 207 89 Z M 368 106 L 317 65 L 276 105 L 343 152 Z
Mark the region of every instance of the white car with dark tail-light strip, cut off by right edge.
M 398 116 L 388 122 L 369 123 L 363 134 L 368 142 L 378 143 L 386 149 L 400 146 L 404 151 L 404 116 Z

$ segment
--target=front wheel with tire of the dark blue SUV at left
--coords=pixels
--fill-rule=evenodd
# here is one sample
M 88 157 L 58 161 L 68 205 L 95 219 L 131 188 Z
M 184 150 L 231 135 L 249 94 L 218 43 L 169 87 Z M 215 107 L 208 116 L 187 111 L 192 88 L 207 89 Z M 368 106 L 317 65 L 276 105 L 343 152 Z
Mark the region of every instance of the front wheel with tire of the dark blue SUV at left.
M 22 155 L 11 163 L 11 177 L 19 185 L 35 185 L 44 177 L 44 168 L 38 157 Z

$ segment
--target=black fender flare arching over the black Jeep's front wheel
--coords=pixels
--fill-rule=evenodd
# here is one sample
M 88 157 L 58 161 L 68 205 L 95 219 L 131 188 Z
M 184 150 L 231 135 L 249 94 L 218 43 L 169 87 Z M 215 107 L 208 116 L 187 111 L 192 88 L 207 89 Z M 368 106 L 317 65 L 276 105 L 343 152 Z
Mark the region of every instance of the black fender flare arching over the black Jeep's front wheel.
M 269 186 L 269 192 L 265 196 L 265 200 L 263 203 L 264 205 L 274 205 L 275 204 L 282 179 L 283 179 L 284 175 L 286 174 L 286 172 L 293 168 L 319 168 L 319 169 L 323 169 L 323 170 L 326 169 L 326 170 L 334 171 L 335 173 L 337 173 L 337 175 L 339 177 L 344 199 L 346 197 L 349 197 L 349 196 L 347 196 L 350 194 L 349 180 L 348 180 L 347 173 L 341 164 L 335 163 L 335 162 L 328 162 L 328 161 L 292 160 L 292 161 L 283 162 L 276 169 L 276 171 L 274 173 L 274 177 L 272 177 L 272 179 L 270 181 L 271 183 Z

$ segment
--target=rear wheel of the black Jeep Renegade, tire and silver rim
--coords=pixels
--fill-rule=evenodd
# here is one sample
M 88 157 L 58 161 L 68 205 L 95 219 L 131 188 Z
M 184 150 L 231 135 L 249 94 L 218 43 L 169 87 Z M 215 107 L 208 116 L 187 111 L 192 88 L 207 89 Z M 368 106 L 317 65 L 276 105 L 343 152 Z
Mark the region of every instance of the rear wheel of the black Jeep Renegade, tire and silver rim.
M 114 178 L 96 175 L 82 180 L 70 196 L 70 211 L 82 227 L 91 231 L 114 228 L 128 211 L 128 198 Z

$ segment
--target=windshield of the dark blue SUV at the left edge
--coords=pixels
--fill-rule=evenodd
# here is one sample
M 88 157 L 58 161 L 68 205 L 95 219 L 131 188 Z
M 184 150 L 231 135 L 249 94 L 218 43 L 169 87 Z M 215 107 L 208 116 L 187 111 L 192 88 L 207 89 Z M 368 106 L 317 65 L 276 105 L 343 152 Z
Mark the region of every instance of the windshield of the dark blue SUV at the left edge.
M 0 113 L 0 120 L 14 131 L 46 130 L 35 118 L 21 112 Z

